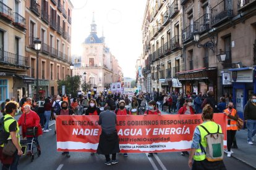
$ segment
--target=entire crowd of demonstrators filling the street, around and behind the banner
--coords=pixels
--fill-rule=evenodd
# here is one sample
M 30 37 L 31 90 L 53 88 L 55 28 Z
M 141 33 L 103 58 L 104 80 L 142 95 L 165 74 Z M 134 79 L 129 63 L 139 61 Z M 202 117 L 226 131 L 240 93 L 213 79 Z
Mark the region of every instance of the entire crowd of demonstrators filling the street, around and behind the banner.
M 236 109 L 234 108 L 232 95 L 224 95 L 220 98 L 220 102 L 217 103 L 215 100 L 214 93 L 208 91 L 207 94 L 198 92 L 192 94 L 179 94 L 178 92 L 172 92 L 167 94 L 164 92 L 153 92 L 134 94 L 129 97 L 124 94 L 98 94 L 94 96 L 90 95 L 79 95 L 78 97 L 71 98 L 69 95 L 53 95 L 52 97 L 40 97 L 35 100 L 23 96 L 19 103 L 15 102 L 15 97 L 11 100 L 6 99 L 5 102 L 1 103 L 1 112 L 3 119 L 13 118 L 18 112 L 22 111 L 22 115 L 19 120 L 8 119 L 7 123 L 4 124 L 4 128 L 10 133 L 9 139 L 12 140 L 17 152 L 14 156 L 4 156 L 2 154 L 2 147 L 0 146 L 0 160 L 2 162 L 2 169 L 17 169 L 17 163 L 19 162 L 19 156 L 22 155 L 20 145 L 17 143 L 17 134 L 19 134 L 19 126 L 22 126 L 22 137 L 28 140 L 35 138 L 38 144 L 38 150 L 40 145 L 38 136 L 42 135 L 43 132 L 49 132 L 49 121 L 55 119 L 58 115 L 99 115 L 99 125 L 101 125 L 103 131 L 100 136 L 100 143 L 97 153 L 106 156 L 106 163 L 116 164 L 116 154 L 119 152 L 118 136 L 116 133 L 116 115 L 161 115 L 161 111 L 169 114 L 180 114 L 180 115 L 193 115 L 202 113 L 203 124 L 208 128 L 212 129 L 211 126 L 216 129 L 216 123 L 213 122 L 213 113 L 224 113 L 227 116 L 227 146 L 228 157 L 231 156 L 231 148 L 237 148 L 236 145 L 236 131 L 237 120 L 239 116 Z M 256 134 L 256 94 L 252 95 L 244 107 L 244 122 L 247 123 L 247 142 L 250 145 L 254 145 L 253 137 Z M 113 116 L 110 116 L 113 115 Z M 106 121 L 103 121 L 106 119 Z M 38 131 L 35 136 L 28 136 L 26 129 L 30 127 L 37 127 Z M 56 131 L 55 131 L 56 132 Z M 205 134 L 205 133 L 203 133 Z M 197 157 L 194 156 L 198 151 L 199 144 L 205 143 L 200 140 L 202 137 L 202 129 L 197 127 L 194 132 L 194 138 L 192 142 L 192 148 L 189 157 L 189 166 L 211 166 L 209 161 L 205 160 L 205 155 Z M 106 142 L 113 140 L 113 143 Z M 201 138 L 202 139 L 202 138 Z M 112 150 L 111 150 L 112 149 Z M 202 151 L 200 150 L 200 154 Z M 110 161 L 109 154 L 112 153 L 112 162 Z M 29 153 L 28 153 L 29 154 Z M 182 152 L 184 156 L 189 154 L 188 152 Z M 69 152 L 62 152 L 62 155 L 70 157 Z M 93 153 L 92 153 L 93 155 Z M 128 156 L 124 153 L 124 156 Z M 148 153 L 148 156 L 153 156 L 153 153 Z M 193 161 L 194 160 L 194 161 Z M 224 169 L 223 161 L 219 164 L 215 164 L 220 169 Z M 192 168 L 193 169 L 193 168 Z

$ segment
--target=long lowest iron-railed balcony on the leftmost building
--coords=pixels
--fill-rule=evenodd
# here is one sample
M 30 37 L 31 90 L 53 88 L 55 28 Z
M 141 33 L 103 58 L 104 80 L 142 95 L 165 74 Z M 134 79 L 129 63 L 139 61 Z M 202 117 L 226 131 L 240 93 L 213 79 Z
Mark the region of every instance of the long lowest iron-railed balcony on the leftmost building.
M 27 68 L 28 57 L 24 57 L 19 54 L 13 54 L 7 51 L 2 51 L 2 49 L 0 49 L 0 64 L 9 65 L 11 67 L 17 68 Z

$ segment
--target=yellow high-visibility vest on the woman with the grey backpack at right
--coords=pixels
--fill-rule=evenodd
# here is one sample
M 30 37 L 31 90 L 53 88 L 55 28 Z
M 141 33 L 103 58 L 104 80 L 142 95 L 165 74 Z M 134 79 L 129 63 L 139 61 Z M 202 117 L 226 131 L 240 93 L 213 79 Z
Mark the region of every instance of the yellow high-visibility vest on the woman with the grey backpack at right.
M 202 123 L 202 125 L 210 132 L 210 133 L 216 133 L 218 131 L 218 124 L 216 124 L 213 121 L 207 121 L 205 123 Z M 205 129 L 203 129 L 203 127 L 201 126 L 197 126 L 200 134 L 201 134 L 201 145 L 203 146 L 203 148 L 206 150 L 207 147 L 207 142 L 205 141 L 205 136 L 207 136 L 207 131 L 205 131 Z M 221 126 L 220 126 L 220 133 L 222 133 L 221 130 Z M 194 155 L 194 160 L 195 161 L 203 161 L 205 160 L 205 153 L 203 152 L 203 150 L 201 150 L 201 147 L 199 147 L 197 150 L 195 150 L 195 155 Z

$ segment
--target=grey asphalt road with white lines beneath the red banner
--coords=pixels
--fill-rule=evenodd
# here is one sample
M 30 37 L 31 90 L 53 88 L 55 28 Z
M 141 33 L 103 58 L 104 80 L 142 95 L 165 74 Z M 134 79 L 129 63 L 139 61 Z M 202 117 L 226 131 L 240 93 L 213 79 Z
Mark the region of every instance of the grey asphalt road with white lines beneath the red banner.
M 90 153 L 70 153 L 71 157 L 66 158 L 61 153 L 56 152 L 56 136 L 54 135 L 54 125 L 51 126 L 53 131 L 40 136 L 40 145 L 42 154 L 38 158 L 35 156 L 33 162 L 28 156 L 20 158 L 19 169 L 189 169 L 187 166 L 188 156 L 181 156 L 180 153 L 158 153 L 152 158 L 148 158 L 145 153 L 129 154 L 128 157 L 117 155 L 119 163 L 113 166 L 104 164 L 103 155 L 91 156 Z M 224 163 L 227 169 L 253 169 L 247 164 L 236 160 L 235 158 L 224 157 Z

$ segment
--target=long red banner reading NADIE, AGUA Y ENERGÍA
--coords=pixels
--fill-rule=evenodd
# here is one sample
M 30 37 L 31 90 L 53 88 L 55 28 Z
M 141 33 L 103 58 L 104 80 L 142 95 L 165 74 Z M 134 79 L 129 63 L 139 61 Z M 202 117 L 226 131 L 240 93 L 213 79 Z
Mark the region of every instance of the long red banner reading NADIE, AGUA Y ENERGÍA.
M 215 113 L 213 119 L 222 127 L 226 146 L 226 115 Z M 121 153 L 190 150 L 194 129 L 201 123 L 201 115 L 117 116 Z M 59 152 L 96 152 L 98 116 L 58 116 L 56 128 Z

